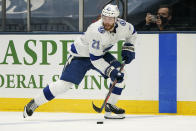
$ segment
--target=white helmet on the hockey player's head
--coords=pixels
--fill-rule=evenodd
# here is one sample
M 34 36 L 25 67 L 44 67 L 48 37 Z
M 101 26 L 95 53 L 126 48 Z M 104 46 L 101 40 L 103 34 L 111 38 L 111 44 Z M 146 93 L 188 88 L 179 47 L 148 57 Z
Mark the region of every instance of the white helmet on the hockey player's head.
M 108 17 L 116 17 L 116 18 L 119 16 L 119 14 L 120 11 L 118 9 L 118 6 L 112 4 L 106 5 L 101 13 L 101 15 L 108 16 Z

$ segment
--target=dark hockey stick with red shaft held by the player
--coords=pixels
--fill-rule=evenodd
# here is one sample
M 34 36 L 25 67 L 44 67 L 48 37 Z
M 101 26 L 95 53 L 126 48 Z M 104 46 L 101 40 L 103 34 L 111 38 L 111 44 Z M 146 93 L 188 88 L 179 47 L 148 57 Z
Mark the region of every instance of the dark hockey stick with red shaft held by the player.
M 125 62 L 123 62 L 122 66 L 120 67 L 120 72 L 123 70 L 124 66 L 125 66 Z M 109 92 L 108 92 L 108 94 L 107 94 L 107 96 L 106 96 L 106 98 L 105 98 L 105 100 L 104 100 L 104 102 L 103 102 L 101 108 L 95 106 L 94 103 L 92 102 L 93 109 L 94 109 L 96 112 L 98 112 L 98 113 L 101 113 L 101 112 L 102 112 L 102 110 L 103 110 L 103 108 L 105 107 L 105 104 L 107 103 L 107 101 L 108 101 L 108 99 L 109 99 L 109 97 L 110 97 L 110 95 L 111 95 L 111 93 L 112 93 L 112 91 L 113 91 L 113 89 L 114 89 L 116 83 L 117 83 L 117 80 L 114 80 L 114 82 L 112 83 L 112 86 L 110 87 Z

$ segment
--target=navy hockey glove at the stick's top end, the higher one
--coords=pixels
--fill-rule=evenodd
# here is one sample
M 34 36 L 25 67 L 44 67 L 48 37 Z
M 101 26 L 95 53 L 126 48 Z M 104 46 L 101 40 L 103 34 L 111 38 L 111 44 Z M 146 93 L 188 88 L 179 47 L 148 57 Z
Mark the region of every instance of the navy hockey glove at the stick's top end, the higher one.
M 122 60 L 125 64 L 129 64 L 133 59 L 135 59 L 135 48 L 131 43 L 125 43 L 122 47 Z

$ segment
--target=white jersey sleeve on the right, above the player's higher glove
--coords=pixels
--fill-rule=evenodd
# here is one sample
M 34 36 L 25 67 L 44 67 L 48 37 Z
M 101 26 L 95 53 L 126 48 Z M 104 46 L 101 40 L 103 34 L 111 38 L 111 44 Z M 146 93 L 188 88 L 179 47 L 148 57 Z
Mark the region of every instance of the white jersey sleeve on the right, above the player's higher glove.
M 125 38 L 125 42 L 129 42 L 133 45 L 136 44 L 136 39 L 137 39 L 137 32 L 134 28 L 134 26 L 130 23 L 128 23 L 128 27 L 127 27 L 127 35 Z

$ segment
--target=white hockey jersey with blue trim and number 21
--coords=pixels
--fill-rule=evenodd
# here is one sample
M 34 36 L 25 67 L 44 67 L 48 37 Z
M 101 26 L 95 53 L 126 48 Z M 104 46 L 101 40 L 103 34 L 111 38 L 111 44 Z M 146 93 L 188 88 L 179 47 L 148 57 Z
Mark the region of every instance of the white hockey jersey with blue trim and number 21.
M 137 32 L 132 24 L 117 19 L 114 32 L 104 30 L 102 20 L 92 23 L 84 35 L 71 45 L 70 53 L 78 57 L 90 57 L 91 63 L 103 74 L 109 65 L 102 56 L 119 40 L 133 45 L 136 43 Z

